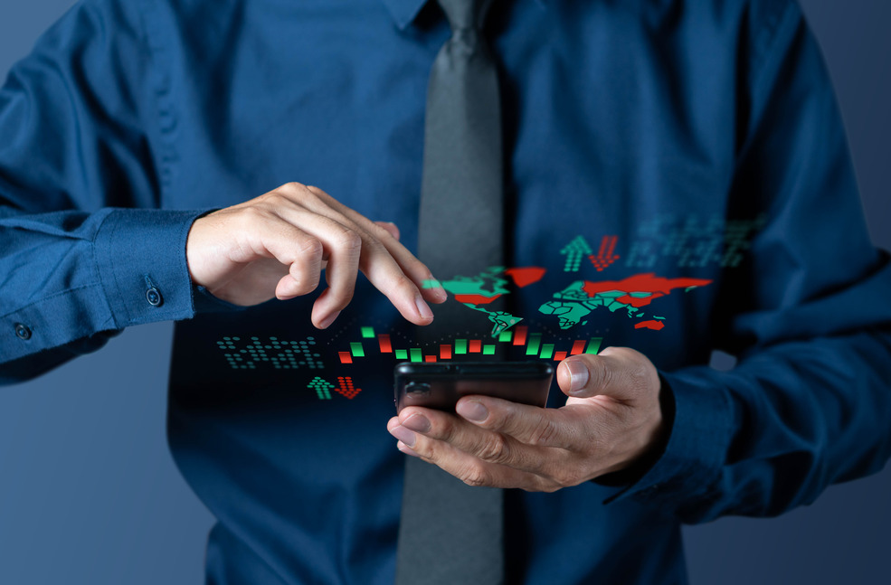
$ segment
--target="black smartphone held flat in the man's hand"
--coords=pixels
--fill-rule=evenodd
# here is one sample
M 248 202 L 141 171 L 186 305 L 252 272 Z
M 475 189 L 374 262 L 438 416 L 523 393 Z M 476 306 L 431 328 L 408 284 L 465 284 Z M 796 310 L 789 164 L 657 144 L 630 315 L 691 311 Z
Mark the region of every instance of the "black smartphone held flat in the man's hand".
M 461 396 L 483 394 L 545 407 L 554 377 L 546 362 L 397 363 L 393 401 L 406 406 L 455 410 Z

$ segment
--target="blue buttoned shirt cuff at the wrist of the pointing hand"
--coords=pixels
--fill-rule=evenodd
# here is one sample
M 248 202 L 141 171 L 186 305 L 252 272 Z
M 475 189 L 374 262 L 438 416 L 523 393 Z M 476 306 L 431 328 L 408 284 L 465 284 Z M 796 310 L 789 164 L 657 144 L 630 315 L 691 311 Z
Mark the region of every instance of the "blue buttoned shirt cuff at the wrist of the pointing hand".
M 115 209 L 96 234 L 101 286 L 115 328 L 194 316 L 185 242 L 206 213 Z

